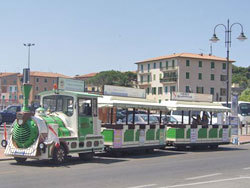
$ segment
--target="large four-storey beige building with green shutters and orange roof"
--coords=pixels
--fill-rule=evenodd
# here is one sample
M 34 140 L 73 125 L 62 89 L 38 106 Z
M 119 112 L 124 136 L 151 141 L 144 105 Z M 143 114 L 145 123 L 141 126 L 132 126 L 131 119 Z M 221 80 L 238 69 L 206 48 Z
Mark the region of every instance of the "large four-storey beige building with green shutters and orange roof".
M 229 62 L 229 86 L 233 62 Z M 214 101 L 226 100 L 226 58 L 179 53 L 136 64 L 138 86 L 146 90 L 148 99 L 161 102 L 171 99 L 173 92 L 187 92 L 212 94 Z

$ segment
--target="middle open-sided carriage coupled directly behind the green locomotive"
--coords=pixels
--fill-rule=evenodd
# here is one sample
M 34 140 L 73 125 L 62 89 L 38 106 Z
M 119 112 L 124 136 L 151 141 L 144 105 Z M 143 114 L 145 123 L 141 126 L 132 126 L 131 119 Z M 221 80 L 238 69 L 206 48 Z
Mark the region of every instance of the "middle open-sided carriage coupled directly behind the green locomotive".
M 106 151 L 164 148 L 165 105 L 146 99 L 103 96 L 99 99 L 99 118 Z M 160 114 L 156 118 L 154 114 Z

